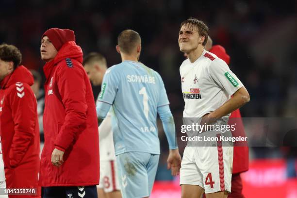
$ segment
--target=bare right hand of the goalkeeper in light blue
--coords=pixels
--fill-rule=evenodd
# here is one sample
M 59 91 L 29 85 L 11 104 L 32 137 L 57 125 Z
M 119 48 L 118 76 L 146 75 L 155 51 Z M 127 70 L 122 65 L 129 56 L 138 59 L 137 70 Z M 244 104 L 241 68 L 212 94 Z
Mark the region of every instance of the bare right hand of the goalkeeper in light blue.
M 181 155 L 179 149 L 169 150 L 169 155 L 167 159 L 167 169 L 171 168 L 171 175 L 180 175 L 181 169 Z

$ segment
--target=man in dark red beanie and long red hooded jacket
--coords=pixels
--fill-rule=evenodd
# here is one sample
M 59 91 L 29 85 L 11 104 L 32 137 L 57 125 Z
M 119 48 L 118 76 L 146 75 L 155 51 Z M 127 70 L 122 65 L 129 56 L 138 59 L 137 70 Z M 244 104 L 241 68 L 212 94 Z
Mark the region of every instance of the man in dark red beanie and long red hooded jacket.
M 99 133 L 95 101 L 74 32 L 51 28 L 42 35 L 45 82 L 39 184 L 44 198 L 97 197 Z M 69 197 L 69 196 L 68 196 Z

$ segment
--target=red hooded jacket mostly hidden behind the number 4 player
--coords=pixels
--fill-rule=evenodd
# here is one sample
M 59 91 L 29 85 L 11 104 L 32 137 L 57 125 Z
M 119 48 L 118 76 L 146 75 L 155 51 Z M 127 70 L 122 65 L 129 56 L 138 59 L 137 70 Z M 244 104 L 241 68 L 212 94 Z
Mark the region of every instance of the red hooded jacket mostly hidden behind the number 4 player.
M 223 46 L 214 45 L 209 51 L 225 61 L 227 65 L 230 64 L 230 56 L 226 53 L 226 50 Z M 241 135 L 242 137 L 246 137 L 239 109 L 235 110 L 230 115 L 228 124 L 232 125 L 234 123 L 236 123 L 236 128 L 235 131 L 232 132 L 233 137 L 238 137 L 239 135 Z M 236 146 L 236 144 L 234 145 L 232 169 L 233 174 L 245 172 L 248 170 L 248 147 L 244 145 L 247 145 L 247 143 L 241 144 L 240 146 Z

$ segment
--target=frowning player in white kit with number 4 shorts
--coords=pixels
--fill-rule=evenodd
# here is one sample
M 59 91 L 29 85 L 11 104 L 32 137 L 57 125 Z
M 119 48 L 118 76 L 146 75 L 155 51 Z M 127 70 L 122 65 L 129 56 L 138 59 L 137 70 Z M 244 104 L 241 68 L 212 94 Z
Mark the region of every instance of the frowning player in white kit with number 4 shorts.
M 190 18 L 181 23 L 179 46 L 188 56 L 180 67 L 183 117 L 220 129 L 227 125 L 231 112 L 249 101 L 249 95 L 227 64 L 204 49 L 207 38 L 204 22 Z M 199 198 L 203 192 L 206 198 L 226 198 L 231 192 L 233 147 L 221 139 L 231 132 L 213 129 L 200 128 L 199 135 L 214 140 L 194 145 L 188 141 L 184 150 L 180 181 L 183 198 Z

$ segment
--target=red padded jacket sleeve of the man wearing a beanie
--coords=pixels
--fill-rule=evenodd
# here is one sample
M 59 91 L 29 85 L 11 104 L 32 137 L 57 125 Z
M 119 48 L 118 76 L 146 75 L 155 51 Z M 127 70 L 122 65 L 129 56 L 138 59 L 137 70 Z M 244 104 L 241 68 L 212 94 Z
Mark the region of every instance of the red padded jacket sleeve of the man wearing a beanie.
M 55 139 L 55 147 L 65 151 L 86 127 L 86 86 L 80 66 L 62 65 L 57 74 L 57 84 L 65 106 L 65 121 Z

